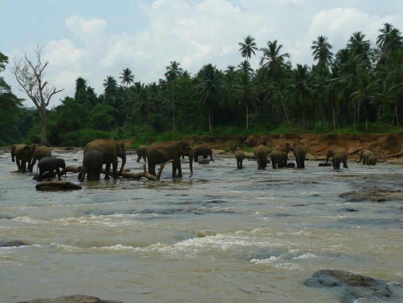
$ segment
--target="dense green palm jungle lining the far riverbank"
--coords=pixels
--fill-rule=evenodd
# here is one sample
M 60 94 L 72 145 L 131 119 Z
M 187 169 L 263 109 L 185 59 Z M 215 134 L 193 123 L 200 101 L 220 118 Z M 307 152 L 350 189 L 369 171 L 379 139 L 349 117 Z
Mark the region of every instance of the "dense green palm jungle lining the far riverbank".
M 238 43 L 244 60 L 225 71 L 206 64 L 192 76 L 173 61 L 163 79 L 145 84 L 125 68 L 118 79 L 104 79 L 100 95 L 78 78 L 75 95 L 47 109 L 48 143 L 84 146 L 110 138 L 150 144 L 200 134 L 399 130 L 403 37 L 391 24 L 383 24 L 373 43 L 353 33 L 334 54 L 327 37 L 318 36 L 311 67 L 293 67 L 277 40 L 261 48 L 254 40 L 247 36 Z M 260 57 L 257 70 L 250 67 L 252 55 Z M 0 72 L 6 63 L 8 57 L 0 53 Z M 23 107 L 0 77 L 0 144 L 39 142 L 37 119 L 36 108 Z

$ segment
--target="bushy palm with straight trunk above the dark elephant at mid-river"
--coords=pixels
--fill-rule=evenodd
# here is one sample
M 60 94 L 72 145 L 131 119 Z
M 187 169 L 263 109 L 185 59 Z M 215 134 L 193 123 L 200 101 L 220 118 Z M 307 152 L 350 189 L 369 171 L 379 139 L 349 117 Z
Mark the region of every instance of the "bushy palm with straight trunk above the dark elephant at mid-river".
M 219 103 L 223 91 L 223 74 L 211 63 L 203 66 L 198 73 L 198 84 L 194 87 L 198 93 L 199 107 L 204 107 L 209 115 L 209 131 L 212 128 L 212 110 Z

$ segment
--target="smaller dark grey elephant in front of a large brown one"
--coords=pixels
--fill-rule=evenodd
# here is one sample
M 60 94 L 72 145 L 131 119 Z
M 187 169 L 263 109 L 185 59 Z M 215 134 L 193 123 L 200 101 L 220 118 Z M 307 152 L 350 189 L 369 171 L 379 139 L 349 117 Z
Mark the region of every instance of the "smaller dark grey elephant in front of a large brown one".
M 109 159 L 108 159 L 109 158 Z M 83 168 L 81 170 L 80 182 L 83 182 L 87 175 L 89 181 L 99 181 L 101 178 L 102 166 L 111 161 L 112 155 L 99 149 L 92 149 L 83 156 Z

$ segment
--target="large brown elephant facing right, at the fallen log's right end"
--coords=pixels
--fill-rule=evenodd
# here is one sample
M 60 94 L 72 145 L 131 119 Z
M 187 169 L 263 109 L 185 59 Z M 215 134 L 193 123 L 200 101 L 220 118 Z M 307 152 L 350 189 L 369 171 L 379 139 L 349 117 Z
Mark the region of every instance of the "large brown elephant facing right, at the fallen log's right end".
M 193 148 L 189 141 L 168 141 L 153 143 L 147 148 L 146 157 L 148 162 L 148 172 L 157 175 L 155 165 L 174 160 L 172 163 L 172 177 L 182 177 L 182 168 L 180 166 L 180 157 L 189 157 L 190 175 L 193 175 Z M 178 170 L 178 174 L 176 174 Z

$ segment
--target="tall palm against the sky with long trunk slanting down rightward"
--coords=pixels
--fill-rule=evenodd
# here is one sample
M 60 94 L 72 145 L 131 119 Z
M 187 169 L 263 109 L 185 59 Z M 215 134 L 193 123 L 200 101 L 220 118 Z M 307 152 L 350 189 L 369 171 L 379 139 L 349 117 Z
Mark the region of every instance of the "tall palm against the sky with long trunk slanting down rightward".
M 286 58 L 290 57 L 288 52 L 283 54 L 280 53 L 282 47 L 282 44 L 277 45 L 277 40 L 273 42 L 268 41 L 267 48 L 262 47 L 259 49 L 263 52 L 263 56 L 260 57 L 260 66 L 267 70 L 268 79 L 276 84 L 287 123 L 290 125 L 284 100 L 284 85 L 282 85 L 282 79 L 284 77 L 284 72 L 291 68 L 291 63 L 289 61 L 286 62 Z

